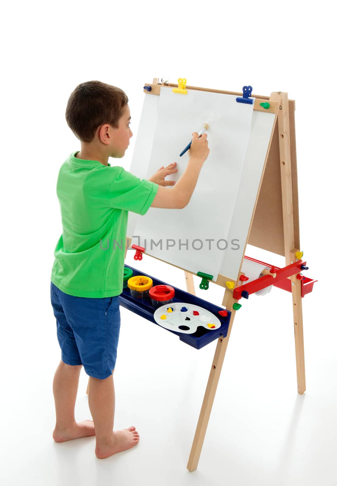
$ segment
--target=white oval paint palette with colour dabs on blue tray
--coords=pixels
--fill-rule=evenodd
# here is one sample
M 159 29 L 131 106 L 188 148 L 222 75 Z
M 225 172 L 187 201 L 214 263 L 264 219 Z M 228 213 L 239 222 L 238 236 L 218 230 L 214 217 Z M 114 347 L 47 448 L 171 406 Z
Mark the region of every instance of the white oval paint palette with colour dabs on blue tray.
M 173 312 L 168 312 L 167 309 L 169 308 L 172 308 Z M 187 311 L 181 311 L 182 308 L 186 308 Z M 199 315 L 194 315 L 194 311 L 199 312 Z M 162 315 L 165 315 L 166 318 L 161 319 Z M 183 334 L 193 334 L 198 326 L 202 326 L 207 330 L 219 329 L 221 326 L 221 322 L 212 312 L 197 305 L 184 302 L 174 302 L 159 307 L 154 313 L 154 318 L 162 328 L 182 332 Z M 208 324 L 212 324 L 214 327 L 209 327 Z M 188 329 L 179 329 L 181 326 Z

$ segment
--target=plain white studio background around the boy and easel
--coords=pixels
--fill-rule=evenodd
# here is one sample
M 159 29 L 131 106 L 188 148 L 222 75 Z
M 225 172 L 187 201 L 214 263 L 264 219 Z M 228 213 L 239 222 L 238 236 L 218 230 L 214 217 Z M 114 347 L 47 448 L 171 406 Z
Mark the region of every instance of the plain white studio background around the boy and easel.
M 1 418 L 6 485 L 336 484 L 336 95 L 331 3 L 194 1 L 15 2 L 2 7 Z M 134 132 L 145 82 L 177 82 L 296 100 L 306 387 L 297 393 L 291 295 L 252 296 L 236 314 L 198 469 L 186 469 L 215 342 L 197 351 L 122 309 L 115 428 L 140 443 L 99 460 L 94 437 L 53 442 L 53 374 L 60 360 L 50 304 L 62 232 L 60 165 L 78 140 L 65 121 L 71 91 L 101 80 L 129 97 Z M 211 148 L 211 147 L 210 147 Z M 167 165 L 165 155 L 158 167 Z M 110 159 L 113 164 L 113 160 Z M 254 247 L 247 255 L 283 259 Z M 133 264 L 131 255 L 127 263 Z M 136 265 L 135 265 L 136 266 Z M 184 288 L 175 268 L 142 268 Z M 196 286 L 199 279 L 195 279 Z M 205 298 L 204 291 L 197 295 Z M 210 284 L 207 299 L 221 304 Z M 90 418 L 81 372 L 76 418 Z

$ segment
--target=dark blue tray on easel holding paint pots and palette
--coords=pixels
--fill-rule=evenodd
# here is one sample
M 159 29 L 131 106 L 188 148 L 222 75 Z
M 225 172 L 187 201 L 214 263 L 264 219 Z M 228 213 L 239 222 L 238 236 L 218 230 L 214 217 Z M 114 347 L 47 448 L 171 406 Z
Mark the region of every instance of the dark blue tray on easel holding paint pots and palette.
M 145 274 L 144 272 L 139 272 L 138 270 L 136 270 L 133 267 L 130 267 L 129 265 L 124 265 L 124 267 L 130 268 L 132 270 L 133 277 L 137 275 L 144 275 L 145 277 L 152 278 L 154 286 L 171 285 L 167 282 L 163 282 L 162 280 L 158 280 L 157 278 L 154 278 L 151 275 Z M 173 285 L 171 285 L 171 287 L 173 287 Z M 150 298 L 142 301 L 135 299 L 131 297 L 130 289 L 128 287 L 123 289 L 123 293 L 119 295 L 118 298 L 121 306 L 125 307 L 131 312 L 135 312 L 136 314 L 144 317 L 144 319 L 153 322 L 154 324 L 156 324 L 156 326 L 159 326 L 161 329 L 169 332 L 173 332 L 173 334 L 177 334 L 177 336 L 179 336 L 180 341 L 189 344 L 192 347 L 195 347 L 195 349 L 200 349 L 201 347 L 206 346 L 212 341 L 215 341 L 215 339 L 218 339 L 219 337 L 227 336 L 228 327 L 231 319 L 231 312 L 228 311 L 226 316 L 221 316 L 219 314 L 219 311 L 224 310 L 222 307 L 218 307 L 214 304 L 211 304 L 210 302 L 207 302 L 207 300 L 200 299 L 195 295 L 189 294 L 188 292 L 184 292 L 183 290 L 177 289 L 176 287 L 174 287 L 174 289 L 175 289 L 175 296 L 173 298 L 172 303 L 186 302 L 188 304 L 202 307 L 207 311 L 212 312 L 214 315 L 216 315 L 216 317 L 221 322 L 221 326 L 216 330 L 208 330 L 199 326 L 195 331 L 195 333 L 193 334 L 184 334 L 181 332 L 176 332 L 173 330 L 162 328 L 161 326 L 159 326 L 159 324 L 156 323 L 153 317 L 153 314 L 155 313 L 156 309 L 152 307 Z

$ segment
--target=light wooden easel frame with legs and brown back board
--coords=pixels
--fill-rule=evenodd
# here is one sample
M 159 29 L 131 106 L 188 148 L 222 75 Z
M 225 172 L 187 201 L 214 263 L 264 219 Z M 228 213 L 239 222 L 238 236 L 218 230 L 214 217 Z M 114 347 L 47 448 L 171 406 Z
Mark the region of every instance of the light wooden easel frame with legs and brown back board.
M 155 78 L 151 86 L 151 94 L 160 94 L 159 79 Z M 177 87 L 175 84 L 167 84 L 168 87 Z M 220 91 L 215 89 L 190 87 L 186 89 L 197 89 L 201 91 L 212 91 L 215 93 L 231 94 L 242 96 L 242 93 L 231 91 Z M 145 90 L 144 90 L 145 91 Z M 235 282 L 235 287 L 240 283 L 242 263 L 247 244 L 257 246 L 267 251 L 285 257 L 285 265 L 289 265 L 297 260 L 295 254 L 300 251 L 299 234 L 299 207 L 298 207 L 298 187 L 297 187 L 297 163 L 296 163 L 296 140 L 295 140 L 295 102 L 288 100 L 287 93 L 273 92 L 270 97 L 251 95 L 256 98 L 254 110 L 263 111 L 261 102 L 267 101 L 270 110 L 277 113 L 275 117 L 272 135 L 266 154 L 265 165 L 261 176 L 261 181 L 250 221 L 248 237 L 245 243 L 245 250 L 241 260 L 240 271 Z M 272 226 L 267 226 L 266 221 L 272 221 Z M 130 240 L 127 241 L 126 250 Z M 145 253 L 145 252 L 144 252 Z M 153 257 L 155 258 L 155 257 Z M 175 265 L 174 265 L 175 266 Z M 179 267 L 177 267 L 179 268 Z M 185 269 L 187 291 L 195 295 L 193 275 Z M 213 283 L 226 288 L 226 281 L 231 280 L 226 276 L 219 275 Z M 290 277 L 291 291 L 294 312 L 295 330 L 295 352 L 296 352 L 296 371 L 298 393 L 305 391 L 305 372 L 304 372 L 304 345 L 303 345 L 303 322 L 302 322 L 302 290 L 301 280 L 296 275 Z M 238 302 L 233 298 L 233 291 L 226 288 L 222 305 L 231 311 L 231 320 L 226 338 L 219 338 L 214 353 L 211 371 L 206 386 L 204 399 L 195 436 L 187 464 L 187 469 L 194 471 L 197 468 L 201 448 L 204 442 L 208 421 L 211 415 L 213 400 L 217 384 L 220 378 L 222 364 L 231 328 L 234 321 L 235 309 L 233 304 Z M 89 383 L 87 388 L 89 393 Z

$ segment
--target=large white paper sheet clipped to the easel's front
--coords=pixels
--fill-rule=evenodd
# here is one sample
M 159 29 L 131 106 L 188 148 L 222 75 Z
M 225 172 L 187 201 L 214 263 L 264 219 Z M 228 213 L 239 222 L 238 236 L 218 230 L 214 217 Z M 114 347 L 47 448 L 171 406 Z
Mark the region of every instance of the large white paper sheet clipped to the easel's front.
M 159 103 L 145 100 L 144 106 L 147 101 L 152 102 L 152 110 L 143 108 L 142 131 L 137 136 L 131 173 L 148 178 L 162 165 L 176 161 L 178 172 L 167 179 L 177 181 L 189 158 L 189 152 L 182 157 L 179 154 L 191 140 L 192 132 L 200 131 L 205 122 L 210 125 L 207 131 L 210 155 L 188 206 L 150 208 L 144 216 L 138 216 L 132 244 L 140 244 L 146 253 L 191 272 L 211 274 L 215 280 L 244 166 L 253 104 L 237 103 L 233 95 L 206 91 L 189 90 L 187 95 L 181 95 L 167 87 L 161 88 Z M 158 106 L 157 120 L 153 117 L 154 104 Z M 147 120 L 145 113 L 148 113 Z M 157 126 L 153 134 L 154 123 Z M 148 135 L 144 134 L 146 124 Z M 146 137 L 146 143 L 139 137 Z M 144 150 L 149 152 L 149 137 L 153 138 L 152 151 L 144 154 Z M 147 172 L 140 174 L 140 167 L 145 171 L 146 156 L 149 157 Z

